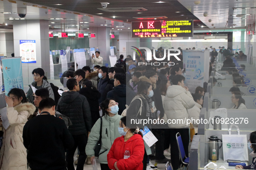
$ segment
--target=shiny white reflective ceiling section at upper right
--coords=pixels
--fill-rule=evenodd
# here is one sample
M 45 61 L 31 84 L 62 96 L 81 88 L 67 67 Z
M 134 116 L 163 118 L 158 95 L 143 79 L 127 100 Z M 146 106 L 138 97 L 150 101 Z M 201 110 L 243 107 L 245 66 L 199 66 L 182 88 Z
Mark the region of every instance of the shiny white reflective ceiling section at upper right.
M 194 4 L 195 0 L 178 1 L 210 29 L 245 27 L 255 22 L 256 8 L 249 8 L 256 7 L 256 0 L 199 0 L 201 2 L 198 5 Z M 207 16 L 204 16 L 205 12 L 207 12 Z M 244 15 L 242 17 L 233 16 L 240 14 Z

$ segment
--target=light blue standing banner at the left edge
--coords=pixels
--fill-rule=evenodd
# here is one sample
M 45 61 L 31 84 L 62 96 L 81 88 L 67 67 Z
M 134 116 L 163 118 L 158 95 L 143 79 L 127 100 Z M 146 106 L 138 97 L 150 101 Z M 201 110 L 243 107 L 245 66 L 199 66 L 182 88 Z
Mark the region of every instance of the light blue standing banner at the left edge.
M 12 88 L 23 89 L 21 57 L 3 58 L 2 63 L 5 94 Z

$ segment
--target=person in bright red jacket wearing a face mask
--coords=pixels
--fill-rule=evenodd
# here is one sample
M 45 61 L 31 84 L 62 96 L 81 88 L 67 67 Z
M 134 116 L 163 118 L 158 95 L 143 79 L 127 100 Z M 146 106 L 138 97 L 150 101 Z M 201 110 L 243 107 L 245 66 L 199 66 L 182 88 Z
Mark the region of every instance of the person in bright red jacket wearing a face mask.
M 120 119 L 119 126 L 118 131 L 122 136 L 115 139 L 107 154 L 108 167 L 112 170 L 142 170 L 144 156 L 142 133 L 126 127 L 126 116 Z

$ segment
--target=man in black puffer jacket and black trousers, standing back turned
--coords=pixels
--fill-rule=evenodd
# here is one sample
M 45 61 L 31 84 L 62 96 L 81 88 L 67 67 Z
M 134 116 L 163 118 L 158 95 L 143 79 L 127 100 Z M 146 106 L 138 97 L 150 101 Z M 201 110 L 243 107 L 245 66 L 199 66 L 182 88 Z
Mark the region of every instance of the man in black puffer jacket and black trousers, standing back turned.
M 86 97 L 78 93 L 78 81 L 76 79 L 68 79 L 67 87 L 69 91 L 62 93 L 62 97 L 58 101 L 56 110 L 63 115 L 68 116 L 72 122 L 72 125 L 68 127 L 68 130 L 74 138 L 75 145 L 73 148 L 68 149 L 66 154 L 68 170 L 75 170 L 74 154 L 77 147 L 80 151 L 77 170 L 83 170 L 85 159 L 87 157 L 85 154 L 87 132 L 91 132 L 91 111 Z

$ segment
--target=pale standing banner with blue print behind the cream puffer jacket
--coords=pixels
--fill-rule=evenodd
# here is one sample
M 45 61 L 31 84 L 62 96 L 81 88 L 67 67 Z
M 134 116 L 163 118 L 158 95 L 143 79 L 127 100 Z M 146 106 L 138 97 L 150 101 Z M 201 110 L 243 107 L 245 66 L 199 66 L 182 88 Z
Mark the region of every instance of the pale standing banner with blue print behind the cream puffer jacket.
M 198 86 L 204 87 L 204 82 L 209 79 L 209 54 L 208 50 L 184 50 L 183 59 L 186 69 L 186 84 L 193 93 Z M 206 66 L 208 65 L 208 67 Z

